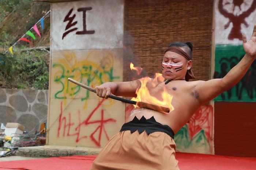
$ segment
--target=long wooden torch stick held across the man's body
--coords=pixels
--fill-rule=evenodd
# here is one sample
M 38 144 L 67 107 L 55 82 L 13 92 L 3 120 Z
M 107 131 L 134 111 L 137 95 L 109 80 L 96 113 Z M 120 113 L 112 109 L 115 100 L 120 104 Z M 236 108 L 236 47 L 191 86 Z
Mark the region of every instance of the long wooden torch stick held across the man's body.
M 96 90 L 93 87 L 86 86 L 85 84 L 82 84 L 82 83 L 80 83 L 76 80 L 73 80 L 71 78 L 68 78 L 68 81 L 72 82 L 72 83 L 75 83 L 76 85 L 78 85 L 80 87 L 86 88 L 87 90 L 90 90 L 90 91 L 96 93 Z M 156 106 L 154 104 L 149 104 L 149 103 L 144 103 L 144 102 L 136 102 L 136 101 L 133 101 L 133 100 L 120 98 L 120 97 L 117 97 L 115 95 L 110 95 L 109 98 L 115 99 L 115 100 L 118 100 L 118 101 L 121 101 L 121 102 L 125 102 L 125 103 L 135 104 L 139 107 L 148 108 L 148 109 L 159 111 L 159 112 L 164 112 L 164 113 L 169 113 L 170 112 L 170 108 L 168 108 L 168 107 Z

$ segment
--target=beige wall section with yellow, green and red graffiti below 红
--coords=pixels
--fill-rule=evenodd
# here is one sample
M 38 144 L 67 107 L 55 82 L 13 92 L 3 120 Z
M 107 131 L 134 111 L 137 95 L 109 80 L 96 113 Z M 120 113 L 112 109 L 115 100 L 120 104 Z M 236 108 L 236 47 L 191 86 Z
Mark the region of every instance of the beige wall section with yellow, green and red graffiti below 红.
M 104 82 L 120 81 L 122 50 L 55 51 L 52 58 L 50 108 L 51 145 L 102 147 L 124 123 L 124 104 L 104 100 L 96 94 L 68 82 L 73 78 L 95 87 Z M 59 113 L 58 113 L 59 112 Z

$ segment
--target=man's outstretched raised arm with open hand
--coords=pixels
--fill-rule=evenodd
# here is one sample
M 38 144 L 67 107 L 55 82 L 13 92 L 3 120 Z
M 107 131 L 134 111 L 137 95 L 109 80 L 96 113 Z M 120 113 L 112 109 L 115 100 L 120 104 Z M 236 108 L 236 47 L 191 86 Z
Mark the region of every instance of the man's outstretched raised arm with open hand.
M 253 60 L 256 58 L 256 24 L 254 25 L 251 40 L 246 42 L 246 37 L 244 34 L 242 37 L 244 50 L 246 52 L 242 60 L 222 79 L 198 81 L 198 83 L 195 85 L 193 90 L 199 94 L 200 103 L 203 104 L 208 102 L 222 92 L 235 86 L 251 66 Z

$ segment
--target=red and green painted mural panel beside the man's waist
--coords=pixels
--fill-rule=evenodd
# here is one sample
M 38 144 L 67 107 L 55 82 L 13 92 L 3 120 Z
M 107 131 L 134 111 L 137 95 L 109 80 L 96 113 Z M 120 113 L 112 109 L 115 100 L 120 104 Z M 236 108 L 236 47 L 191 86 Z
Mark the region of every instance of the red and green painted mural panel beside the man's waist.
M 201 106 L 174 136 L 177 151 L 213 154 L 213 107 Z

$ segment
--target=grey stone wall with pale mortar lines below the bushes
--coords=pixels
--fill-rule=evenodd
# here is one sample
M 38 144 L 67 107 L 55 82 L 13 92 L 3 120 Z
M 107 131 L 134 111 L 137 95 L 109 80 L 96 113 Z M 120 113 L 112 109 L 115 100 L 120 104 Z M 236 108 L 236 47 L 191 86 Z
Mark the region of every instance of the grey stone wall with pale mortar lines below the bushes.
M 47 121 L 48 90 L 0 89 L 0 123 L 16 122 L 26 131 Z

